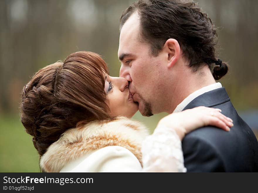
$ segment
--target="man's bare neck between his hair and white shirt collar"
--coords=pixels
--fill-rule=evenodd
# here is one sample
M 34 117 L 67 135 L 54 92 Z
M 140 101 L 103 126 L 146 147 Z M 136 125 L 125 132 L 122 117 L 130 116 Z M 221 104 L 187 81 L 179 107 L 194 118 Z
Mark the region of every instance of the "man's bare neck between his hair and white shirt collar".
M 177 79 L 177 83 L 175 84 L 176 86 L 172 91 L 171 108 L 167 113 L 173 113 L 177 105 L 179 105 L 191 93 L 205 86 L 216 83 L 208 66 L 204 66 L 200 72 L 186 72 L 184 77 L 187 78 L 181 76 Z

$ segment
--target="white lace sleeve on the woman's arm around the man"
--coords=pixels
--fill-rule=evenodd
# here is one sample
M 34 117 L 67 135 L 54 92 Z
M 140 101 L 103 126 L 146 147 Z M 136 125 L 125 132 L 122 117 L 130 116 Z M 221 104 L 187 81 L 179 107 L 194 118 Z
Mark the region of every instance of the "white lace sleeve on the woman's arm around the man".
M 176 131 L 158 126 L 142 143 L 143 172 L 186 172 Z

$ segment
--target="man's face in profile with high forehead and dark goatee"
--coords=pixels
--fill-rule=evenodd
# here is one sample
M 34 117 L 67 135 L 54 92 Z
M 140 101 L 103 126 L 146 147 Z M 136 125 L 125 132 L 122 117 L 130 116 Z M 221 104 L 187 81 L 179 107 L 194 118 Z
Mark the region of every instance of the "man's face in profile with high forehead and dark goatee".
M 139 103 L 143 116 L 162 112 L 164 103 L 164 54 L 150 55 L 150 45 L 139 39 L 140 21 L 133 14 L 121 29 L 118 57 L 121 61 L 120 77 L 126 78 L 133 100 Z

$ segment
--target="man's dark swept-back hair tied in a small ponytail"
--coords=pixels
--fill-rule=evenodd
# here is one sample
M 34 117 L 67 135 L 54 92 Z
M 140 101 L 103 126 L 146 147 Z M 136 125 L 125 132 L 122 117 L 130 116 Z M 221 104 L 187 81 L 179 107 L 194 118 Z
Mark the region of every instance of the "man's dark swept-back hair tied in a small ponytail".
M 228 64 L 215 58 L 218 35 L 215 25 L 193 1 L 139 0 L 130 5 L 120 18 L 120 29 L 137 12 L 140 39 L 150 44 L 152 56 L 158 56 L 169 38 L 178 41 L 189 66 L 197 71 L 208 64 L 215 80 L 228 72 Z

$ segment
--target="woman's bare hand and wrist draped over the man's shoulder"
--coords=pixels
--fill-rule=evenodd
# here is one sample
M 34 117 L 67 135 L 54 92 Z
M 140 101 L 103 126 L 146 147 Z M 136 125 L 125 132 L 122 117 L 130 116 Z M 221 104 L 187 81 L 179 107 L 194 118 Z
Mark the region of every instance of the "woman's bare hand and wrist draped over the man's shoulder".
M 196 107 L 167 115 L 159 121 L 158 125 L 174 129 L 180 140 L 187 133 L 208 125 L 230 131 L 230 127 L 233 126 L 232 119 L 220 112 L 220 109 Z

